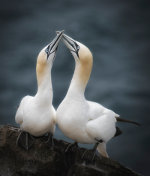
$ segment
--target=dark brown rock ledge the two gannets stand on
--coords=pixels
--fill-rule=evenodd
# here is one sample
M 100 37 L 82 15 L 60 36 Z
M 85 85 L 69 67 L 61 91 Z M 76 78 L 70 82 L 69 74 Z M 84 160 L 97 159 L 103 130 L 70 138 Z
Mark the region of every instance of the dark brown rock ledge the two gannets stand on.
M 36 138 L 26 151 L 16 145 L 19 129 L 0 127 L 0 176 L 139 176 L 111 159 L 96 156 L 95 162 L 81 159 L 86 149 L 64 152 L 68 144 L 54 139 L 50 147 Z

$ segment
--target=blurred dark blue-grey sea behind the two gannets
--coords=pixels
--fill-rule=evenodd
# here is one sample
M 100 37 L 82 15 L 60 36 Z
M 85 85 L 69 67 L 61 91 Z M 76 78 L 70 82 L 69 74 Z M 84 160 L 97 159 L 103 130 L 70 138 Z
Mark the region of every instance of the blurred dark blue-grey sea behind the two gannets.
M 123 135 L 108 144 L 110 157 L 150 175 L 150 3 L 145 0 L 0 1 L 0 124 L 15 124 L 23 96 L 37 90 L 38 52 L 56 30 L 87 45 L 94 66 L 86 98 L 142 124 L 118 124 Z M 55 108 L 74 60 L 60 44 L 52 70 Z M 56 138 L 66 139 L 57 129 Z M 88 146 L 91 147 L 91 146 Z

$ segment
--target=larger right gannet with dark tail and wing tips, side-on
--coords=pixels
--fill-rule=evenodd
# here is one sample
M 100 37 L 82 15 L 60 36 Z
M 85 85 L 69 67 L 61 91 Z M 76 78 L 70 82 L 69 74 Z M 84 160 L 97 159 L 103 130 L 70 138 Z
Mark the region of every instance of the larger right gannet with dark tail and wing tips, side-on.
M 116 122 L 137 123 L 121 119 L 101 104 L 86 100 L 84 92 L 92 70 L 92 53 L 85 45 L 65 34 L 62 40 L 74 57 L 75 71 L 68 92 L 57 109 L 56 122 L 64 135 L 74 140 L 75 144 L 95 144 L 93 156 L 97 149 L 102 156 L 108 157 L 107 142 L 121 134 Z

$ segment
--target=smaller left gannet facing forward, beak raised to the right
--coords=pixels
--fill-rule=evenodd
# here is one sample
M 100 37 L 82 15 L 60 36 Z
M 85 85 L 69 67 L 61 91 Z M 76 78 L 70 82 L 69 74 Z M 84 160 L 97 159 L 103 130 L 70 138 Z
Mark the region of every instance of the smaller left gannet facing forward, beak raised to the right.
M 15 121 L 20 125 L 22 131 L 18 136 L 17 143 L 21 143 L 22 147 L 27 150 L 32 145 L 30 143 L 33 143 L 31 135 L 39 137 L 49 133 L 50 137 L 55 131 L 56 111 L 52 105 L 51 69 L 62 34 L 63 31 L 40 51 L 36 64 L 37 93 L 35 96 L 25 96 L 16 112 Z M 25 137 L 24 143 L 21 137 Z

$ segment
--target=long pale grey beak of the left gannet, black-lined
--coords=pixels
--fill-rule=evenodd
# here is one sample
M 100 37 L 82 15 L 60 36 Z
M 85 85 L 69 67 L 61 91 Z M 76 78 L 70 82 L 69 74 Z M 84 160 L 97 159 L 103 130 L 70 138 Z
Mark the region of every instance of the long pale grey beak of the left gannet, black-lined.
M 45 52 L 47 53 L 47 58 L 49 57 L 50 54 L 56 52 L 59 41 L 63 36 L 63 32 L 64 30 L 60 31 L 59 34 L 57 34 L 57 36 L 52 40 L 52 42 L 45 49 Z

